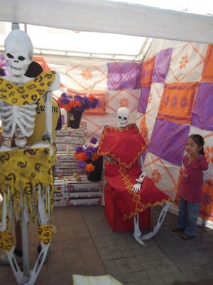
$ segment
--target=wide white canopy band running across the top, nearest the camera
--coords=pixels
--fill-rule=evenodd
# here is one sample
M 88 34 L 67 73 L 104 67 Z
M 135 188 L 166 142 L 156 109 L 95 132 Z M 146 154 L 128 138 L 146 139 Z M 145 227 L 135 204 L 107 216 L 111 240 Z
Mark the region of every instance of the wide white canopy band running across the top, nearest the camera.
M 1 0 L 0 19 L 79 31 L 212 43 L 212 16 L 124 2 Z

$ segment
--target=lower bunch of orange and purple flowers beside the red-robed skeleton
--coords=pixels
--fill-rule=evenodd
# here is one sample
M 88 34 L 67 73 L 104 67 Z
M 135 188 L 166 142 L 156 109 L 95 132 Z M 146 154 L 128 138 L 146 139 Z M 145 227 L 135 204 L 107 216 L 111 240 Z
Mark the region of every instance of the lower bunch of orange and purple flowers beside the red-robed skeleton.
M 97 165 L 102 165 L 102 156 L 97 154 L 97 147 L 97 138 L 92 138 L 89 145 L 79 145 L 75 149 L 74 156 L 79 160 L 78 166 L 87 172 L 92 172 Z

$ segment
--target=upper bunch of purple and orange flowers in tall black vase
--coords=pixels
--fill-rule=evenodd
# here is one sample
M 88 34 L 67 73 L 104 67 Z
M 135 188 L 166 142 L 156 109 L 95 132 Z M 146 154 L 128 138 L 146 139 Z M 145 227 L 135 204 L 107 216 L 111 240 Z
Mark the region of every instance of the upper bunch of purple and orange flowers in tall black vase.
M 99 104 L 99 100 L 92 94 L 89 96 L 72 96 L 62 93 L 58 98 L 58 103 L 60 108 L 64 108 L 66 111 L 78 110 L 84 112 L 84 110 L 96 108 Z

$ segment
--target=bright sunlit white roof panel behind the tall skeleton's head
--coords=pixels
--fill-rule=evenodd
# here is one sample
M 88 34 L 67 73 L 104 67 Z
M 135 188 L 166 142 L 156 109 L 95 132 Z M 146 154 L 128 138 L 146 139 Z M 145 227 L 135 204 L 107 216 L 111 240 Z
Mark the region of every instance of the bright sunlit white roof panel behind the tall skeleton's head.
M 151 40 L 141 36 L 65 30 L 19 24 L 33 41 L 34 54 L 140 61 Z M 11 23 L 0 22 L 0 51 Z M 141 52 L 141 47 L 143 53 Z

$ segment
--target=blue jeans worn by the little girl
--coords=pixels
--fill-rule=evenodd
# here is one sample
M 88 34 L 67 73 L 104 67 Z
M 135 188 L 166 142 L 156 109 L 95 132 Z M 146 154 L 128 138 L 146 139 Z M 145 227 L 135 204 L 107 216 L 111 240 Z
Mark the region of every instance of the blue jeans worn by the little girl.
M 199 209 L 200 203 L 190 203 L 180 197 L 178 228 L 185 229 L 185 234 L 196 236 Z

